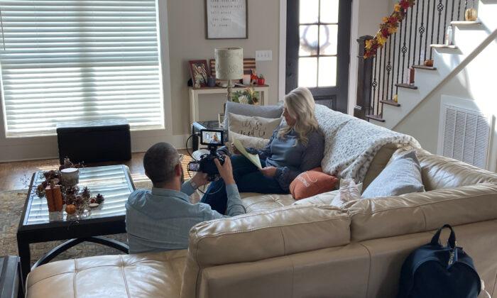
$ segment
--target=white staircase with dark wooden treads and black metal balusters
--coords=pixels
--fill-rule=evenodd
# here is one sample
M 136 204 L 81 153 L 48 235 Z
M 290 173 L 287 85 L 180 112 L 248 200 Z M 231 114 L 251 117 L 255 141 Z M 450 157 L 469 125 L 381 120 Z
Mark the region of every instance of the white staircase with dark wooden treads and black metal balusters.
M 467 2 L 450 2 L 417 0 L 398 33 L 378 50 L 376 57 L 365 61 L 359 57 L 362 68 L 358 75 L 355 116 L 395 130 L 422 101 L 429 99 L 488 45 L 496 42 L 497 0 L 478 2 L 477 21 L 463 21 Z M 444 44 L 447 26 L 453 29 L 452 45 Z M 371 37 L 359 40 L 359 53 L 364 53 L 361 47 L 368 38 Z M 423 65 L 425 60 L 433 60 L 433 66 Z M 409 84 L 410 67 L 415 72 L 414 84 Z

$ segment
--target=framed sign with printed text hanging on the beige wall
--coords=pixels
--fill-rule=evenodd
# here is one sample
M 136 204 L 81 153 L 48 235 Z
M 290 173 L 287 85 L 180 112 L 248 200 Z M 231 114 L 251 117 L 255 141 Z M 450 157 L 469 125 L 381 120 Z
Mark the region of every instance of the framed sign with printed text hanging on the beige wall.
M 248 38 L 247 0 L 205 0 L 205 38 Z

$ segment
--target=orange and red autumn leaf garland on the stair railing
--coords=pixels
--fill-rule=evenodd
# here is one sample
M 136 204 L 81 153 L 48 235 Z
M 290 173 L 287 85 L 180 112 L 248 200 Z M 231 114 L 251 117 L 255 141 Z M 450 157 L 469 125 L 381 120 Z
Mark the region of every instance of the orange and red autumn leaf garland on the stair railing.
M 364 50 L 364 59 L 376 56 L 378 48 L 383 48 L 388 37 L 397 32 L 399 23 L 405 18 L 408 9 L 415 5 L 415 0 L 400 0 L 393 6 L 393 13 L 390 16 L 383 17 L 383 23 L 380 24 L 380 30 L 373 39 L 366 40 Z

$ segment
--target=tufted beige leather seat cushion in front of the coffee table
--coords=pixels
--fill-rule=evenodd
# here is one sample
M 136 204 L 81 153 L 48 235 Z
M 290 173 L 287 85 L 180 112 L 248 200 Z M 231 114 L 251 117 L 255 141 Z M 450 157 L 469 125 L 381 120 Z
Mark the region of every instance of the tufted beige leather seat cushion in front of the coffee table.
M 28 275 L 27 297 L 180 297 L 186 255 L 171 250 L 48 263 Z

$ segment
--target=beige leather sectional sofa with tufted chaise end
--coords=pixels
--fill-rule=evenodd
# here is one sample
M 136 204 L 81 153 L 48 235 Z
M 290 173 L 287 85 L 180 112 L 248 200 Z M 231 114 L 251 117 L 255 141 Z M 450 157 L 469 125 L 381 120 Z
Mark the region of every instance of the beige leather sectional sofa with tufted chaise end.
M 395 148 L 382 148 L 371 182 Z M 343 209 L 244 194 L 249 214 L 200 223 L 188 250 L 62 260 L 28 276 L 28 297 L 395 297 L 400 267 L 444 223 L 497 295 L 497 175 L 419 151 L 425 193 Z

